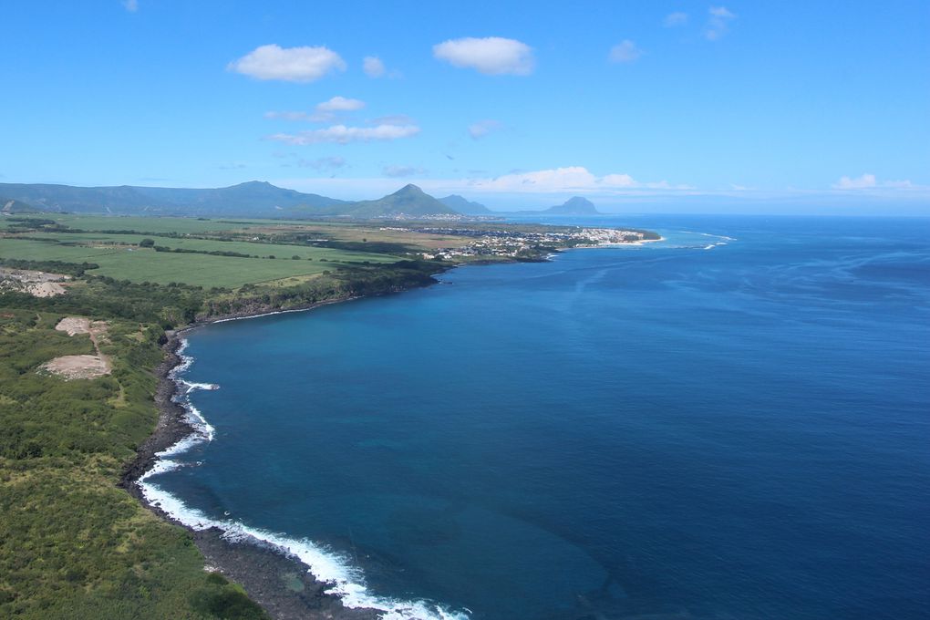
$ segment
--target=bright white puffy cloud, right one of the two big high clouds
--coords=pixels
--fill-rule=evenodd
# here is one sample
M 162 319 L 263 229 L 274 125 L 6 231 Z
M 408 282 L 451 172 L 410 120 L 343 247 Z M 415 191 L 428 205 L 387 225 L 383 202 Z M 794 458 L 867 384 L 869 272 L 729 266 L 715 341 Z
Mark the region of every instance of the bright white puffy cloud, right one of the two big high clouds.
M 432 46 L 432 55 L 454 67 L 468 67 L 488 75 L 529 75 L 535 66 L 532 47 L 499 36 L 451 39 Z

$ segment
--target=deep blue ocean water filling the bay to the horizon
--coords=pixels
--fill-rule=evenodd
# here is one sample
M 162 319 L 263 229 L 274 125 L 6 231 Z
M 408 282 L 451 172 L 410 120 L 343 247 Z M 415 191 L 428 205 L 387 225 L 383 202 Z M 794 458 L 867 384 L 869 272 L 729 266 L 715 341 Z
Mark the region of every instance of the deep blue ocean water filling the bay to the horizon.
M 930 219 L 579 223 L 668 241 L 196 330 L 149 481 L 473 618 L 930 617 Z

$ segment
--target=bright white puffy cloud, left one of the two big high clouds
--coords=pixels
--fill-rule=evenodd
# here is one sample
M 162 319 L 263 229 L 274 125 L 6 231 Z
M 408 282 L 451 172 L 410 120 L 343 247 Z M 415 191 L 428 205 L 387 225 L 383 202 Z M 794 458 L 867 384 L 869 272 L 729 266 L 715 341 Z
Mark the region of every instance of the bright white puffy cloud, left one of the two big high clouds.
M 326 47 L 260 46 L 226 66 L 227 71 L 242 73 L 258 80 L 313 82 L 326 73 L 345 71 L 339 54 Z

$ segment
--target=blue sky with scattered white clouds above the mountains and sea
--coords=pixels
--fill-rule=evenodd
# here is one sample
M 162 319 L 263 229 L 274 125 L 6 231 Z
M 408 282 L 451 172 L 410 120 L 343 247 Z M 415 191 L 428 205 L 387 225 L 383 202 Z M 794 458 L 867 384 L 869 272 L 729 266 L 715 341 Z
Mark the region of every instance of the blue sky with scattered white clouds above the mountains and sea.
M 930 2 L 5 0 L 0 183 L 930 215 Z

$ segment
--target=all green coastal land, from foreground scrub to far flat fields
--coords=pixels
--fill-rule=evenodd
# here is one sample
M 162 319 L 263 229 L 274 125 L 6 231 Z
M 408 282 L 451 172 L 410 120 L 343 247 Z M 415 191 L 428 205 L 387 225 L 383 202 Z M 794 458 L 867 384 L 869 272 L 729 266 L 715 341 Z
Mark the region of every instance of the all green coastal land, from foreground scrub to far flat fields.
M 0 266 L 73 278 L 55 297 L 0 294 L 0 617 L 265 618 L 241 587 L 204 571 L 190 534 L 117 487 L 157 419 L 153 371 L 165 330 L 429 284 L 443 268 L 405 251 L 313 245 L 326 223 L 178 219 L 172 229 L 139 218 L 131 224 L 144 234 L 113 227 L 126 219 L 0 220 Z M 354 234 L 326 239 L 379 247 Z M 94 353 L 89 336 L 55 329 L 66 316 L 108 323 L 98 341 L 110 375 L 64 380 L 42 370 Z

